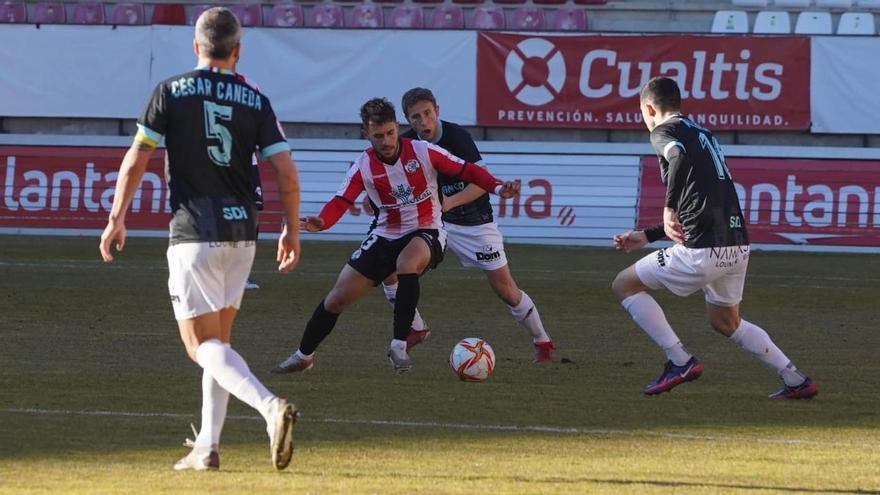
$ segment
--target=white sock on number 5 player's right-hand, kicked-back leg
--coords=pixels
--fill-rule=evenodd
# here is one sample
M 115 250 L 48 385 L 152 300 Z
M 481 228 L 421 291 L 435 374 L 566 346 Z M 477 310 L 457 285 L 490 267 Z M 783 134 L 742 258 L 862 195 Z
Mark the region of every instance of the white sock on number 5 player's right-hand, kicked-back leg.
M 244 358 L 232 347 L 226 347 L 217 339 L 206 340 L 196 349 L 196 360 L 221 387 L 259 411 L 267 422 L 274 421 L 271 405 L 275 395 L 257 380 Z

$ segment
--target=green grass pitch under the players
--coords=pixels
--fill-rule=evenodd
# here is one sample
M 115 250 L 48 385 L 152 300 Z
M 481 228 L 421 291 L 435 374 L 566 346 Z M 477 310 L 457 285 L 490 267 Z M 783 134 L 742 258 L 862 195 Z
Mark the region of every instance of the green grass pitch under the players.
M 774 402 L 773 373 L 715 334 L 698 294 L 657 294 L 705 364 L 673 392 L 641 388 L 664 356 L 610 292 L 637 259 L 609 249 L 508 246 L 566 362 L 531 346 L 483 275 L 450 255 L 422 279 L 434 339 L 391 372 L 391 308 L 349 308 L 312 371 L 268 369 L 299 342 L 356 242 L 306 242 L 274 272 L 261 242 L 233 344 L 302 410 L 281 473 L 255 412 L 230 402 L 221 471 L 171 464 L 198 426 L 200 369 L 179 342 L 164 248 L 129 238 L 113 264 L 97 239 L 0 237 L 0 493 L 691 494 L 880 493 L 880 258 L 755 252 L 743 315 L 817 380 L 811 401 Z M 463 383 L 460 338 L 494 347 L 495 375 Z

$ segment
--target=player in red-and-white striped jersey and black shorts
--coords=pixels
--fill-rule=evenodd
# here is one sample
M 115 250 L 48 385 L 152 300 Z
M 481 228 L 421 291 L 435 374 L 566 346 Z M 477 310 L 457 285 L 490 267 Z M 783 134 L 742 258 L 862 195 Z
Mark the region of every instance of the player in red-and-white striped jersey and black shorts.
M 478 165 L 465 162 L 425 141 L 401 138 L 394 105 L 374 98 L 361 107 L 364 136 L 372 145 L 354 162 L 339 191 L 317 216 L 302 219 L 303 230 L 332 227 L 361 192 L 377 206 L 375 228 L 351 255 L 336 285 L 318 304 L 306 324 L 299 349 L 272 368 L 290 373 L 311 368 L 314 352 L 330 334 L 339 314 L 397 273 L 394 302 L 394 338 L 388 357 L 395 371 L 412 367 L 406 338 L 419 301 L 419 276 L 443 259 L 446 233 L 437 177 L 461 178 L 502 197 L 514 196 L 519 183 L 502 183 Z

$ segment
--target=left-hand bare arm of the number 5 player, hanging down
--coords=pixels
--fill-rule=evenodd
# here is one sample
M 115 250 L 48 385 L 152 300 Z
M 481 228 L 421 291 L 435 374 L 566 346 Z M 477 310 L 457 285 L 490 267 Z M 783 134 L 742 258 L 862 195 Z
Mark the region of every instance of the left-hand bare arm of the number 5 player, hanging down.
M 125 247 L 125 214 L 134 198 L 147 170 L 147 163 L 155 148 L 135 141 L 125 153 L 122 164 L 119 166 L 119 176 L 116 179 L 116 191 L 113 195 L 113 206 L 110 209 L 110 217 L 107 219 L 107 226 L 101 234 L 101 243 L 99 249 L 101 257 L 106 262 L 113 261 L 113 255 L 110 248 L 115 244 L 117 251 L 122 251 Z

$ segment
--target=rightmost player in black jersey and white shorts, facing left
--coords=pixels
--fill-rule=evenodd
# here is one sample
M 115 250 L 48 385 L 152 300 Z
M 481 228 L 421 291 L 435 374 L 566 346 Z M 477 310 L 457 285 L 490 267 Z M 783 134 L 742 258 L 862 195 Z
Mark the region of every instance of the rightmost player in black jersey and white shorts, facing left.
M 671 248 L 651 253 L 620 272 L 612 284 L 624 309 L 668 359 L 660 376 L 645 387 L 645 394 L 667 392 L 703 373 L 703 364 L 684 348 L 648 294 L 667 289 L 682 297 L 698 290 L 705 293 L 712 328 L 782 379 L 782 389 L 770 394 L 771 399 L 815 396 L 816 382 L 798 371 L 763 328 L 740 317 L 749 240 L 718 141 L 680 113 L 681 93 L 673 79 L 648 81 L 640 107 L 666 185 L 663 222 L 616 235 L 614 246 L 630 252 L 664 237 L 674 242 Z

